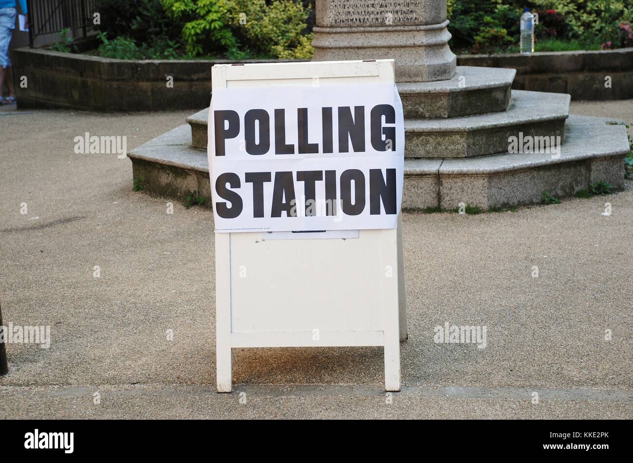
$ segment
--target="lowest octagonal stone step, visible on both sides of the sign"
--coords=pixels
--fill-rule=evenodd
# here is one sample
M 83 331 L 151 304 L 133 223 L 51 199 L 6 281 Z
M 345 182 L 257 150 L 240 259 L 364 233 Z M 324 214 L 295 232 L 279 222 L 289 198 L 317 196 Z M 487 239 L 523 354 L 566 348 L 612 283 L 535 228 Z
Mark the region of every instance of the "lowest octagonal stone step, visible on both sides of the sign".
M 543 191 L 573 195 L 605 180 L 624 186 L 629 142 L 624 125 L 589 116 L 569 116 L 560 157 L 496 154 L 462 159 L 405 159 L 403 207 L 538 204 Z M 192 191 L 211 205 L 206 152 L 191 148 L 191 131 L 181 125 L 132 150 L 135 180 L 144 191 L 179 200 Z

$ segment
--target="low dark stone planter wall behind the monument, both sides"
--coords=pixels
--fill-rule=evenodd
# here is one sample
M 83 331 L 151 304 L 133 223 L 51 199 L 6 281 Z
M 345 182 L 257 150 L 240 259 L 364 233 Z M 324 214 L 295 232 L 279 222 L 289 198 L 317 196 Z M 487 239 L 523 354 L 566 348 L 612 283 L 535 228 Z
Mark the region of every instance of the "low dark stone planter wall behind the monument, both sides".
M 161 111 L 209 106 L 211 67 L 233 61 L 126 61 L 46 49 L 12 52 L 18 108 Z M 248 63 L 276 60 L 252 60 Z M 633 48 L 541 52 L 531 56 L 463 55 L 459 66 L 515 68 L 513 89 L 569 93 L 572 99 L 633 98 Z M 173 77 L 173 88 L 167 87 Z M 605 87 L 610 77 L 611 87 Z

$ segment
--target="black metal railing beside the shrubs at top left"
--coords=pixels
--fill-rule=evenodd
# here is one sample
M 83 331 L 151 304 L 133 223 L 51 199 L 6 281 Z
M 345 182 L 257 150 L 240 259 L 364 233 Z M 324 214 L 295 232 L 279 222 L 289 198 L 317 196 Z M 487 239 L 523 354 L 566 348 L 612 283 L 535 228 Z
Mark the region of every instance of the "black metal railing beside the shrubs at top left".
M 57 34 L 63 29 L 81 29 L 83 37 L 87 37 L 96 3 L 96 0 L 27 0 L 29 46 L 33 47 L 35 37 Z

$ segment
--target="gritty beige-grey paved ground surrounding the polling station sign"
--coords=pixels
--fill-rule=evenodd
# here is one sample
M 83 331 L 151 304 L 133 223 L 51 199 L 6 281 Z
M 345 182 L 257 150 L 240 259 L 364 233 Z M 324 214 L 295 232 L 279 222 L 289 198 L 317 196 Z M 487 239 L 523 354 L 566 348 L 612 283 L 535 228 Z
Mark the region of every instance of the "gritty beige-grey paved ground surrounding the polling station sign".
M 3 320 L 51 326 L 49 349 L 8 344 L 0 417 L 633 417 L 631 182 L 515 213 L 403 214 L 403 392 L 385 396 L 382 349 L 359 347 L 236 349 L 235 392 L 217 394 L 211 211 L 133 192 L 129 159 L 73 152 L 85 132 L 130 150 L 193 112 L 0 107 Z M 570 113 L 633 122 L 633 100 Z M 446 322 L 486 326 L 486 348 L 434 343 Z

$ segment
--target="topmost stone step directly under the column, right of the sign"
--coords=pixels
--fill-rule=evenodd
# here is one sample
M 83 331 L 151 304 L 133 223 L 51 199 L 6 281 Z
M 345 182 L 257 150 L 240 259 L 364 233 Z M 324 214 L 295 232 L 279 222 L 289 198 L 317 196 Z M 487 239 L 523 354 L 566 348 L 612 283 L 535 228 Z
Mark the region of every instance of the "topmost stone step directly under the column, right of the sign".
M 505 111 L 517 71 L 457 66 L 450 80 L 401 82 L 404 118 L 435 119 Z

